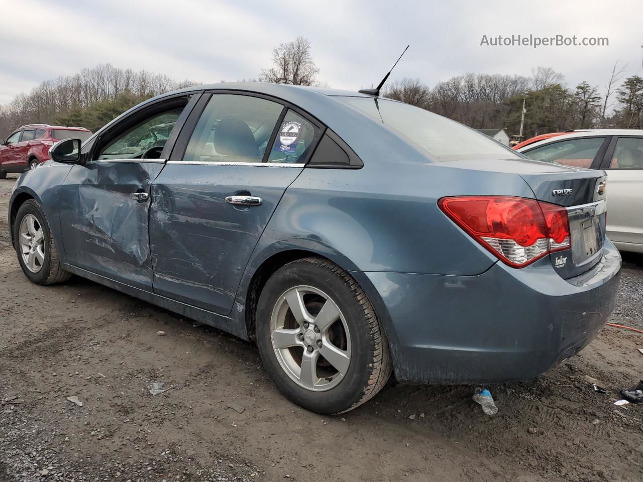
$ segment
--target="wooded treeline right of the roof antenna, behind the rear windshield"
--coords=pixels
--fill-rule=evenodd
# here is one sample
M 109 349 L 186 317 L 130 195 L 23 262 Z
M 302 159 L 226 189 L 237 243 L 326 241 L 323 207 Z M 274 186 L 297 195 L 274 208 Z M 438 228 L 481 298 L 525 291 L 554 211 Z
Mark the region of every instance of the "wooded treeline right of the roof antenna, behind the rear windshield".
M 614 67 L 602 95 L 588 82 L 566 87 L 565 77 L 547 67 L 533 69 L 531 77 L 468 73 L 433 88 L 404 78 L 386 86 L 383 94 L 475 129 L 505 127 L 509 135 L 520 130 L 524 100 L 527 138 L 567 129 L 640 129 L 643 78 L 620 82 L 623 72 Z

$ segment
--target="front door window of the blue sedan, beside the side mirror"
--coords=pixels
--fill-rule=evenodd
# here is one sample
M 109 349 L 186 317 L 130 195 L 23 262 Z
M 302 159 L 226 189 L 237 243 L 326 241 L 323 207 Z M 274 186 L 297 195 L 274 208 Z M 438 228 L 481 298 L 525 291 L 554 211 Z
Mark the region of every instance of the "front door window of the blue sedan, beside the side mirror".
M 183 109 L 184 107 L 175 107 L 157 112 L 130 127 L 102 147 L 98 159 L 138 159 L 142 156 L 158 158 Z M 81 133 L 82 131 L 75 131 L 73 137 Z M 89 132 L 86 134 L 87 138 L 91 136 Z M 150 152 L 152 148 L 154 151 Z M 152 152 L 156 154 L 152 156 Z

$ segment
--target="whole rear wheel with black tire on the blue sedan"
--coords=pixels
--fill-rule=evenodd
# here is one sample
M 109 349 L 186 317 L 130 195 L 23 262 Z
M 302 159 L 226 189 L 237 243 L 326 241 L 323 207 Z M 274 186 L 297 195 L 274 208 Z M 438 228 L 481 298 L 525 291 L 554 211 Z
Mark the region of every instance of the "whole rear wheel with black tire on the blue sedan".
M 390 377 L 388 341 L 358 283 L 320 258 L 296 260 L 267 281 L 257 306 L 257 344 L 271 379 L 295 404 L 349 411 Z

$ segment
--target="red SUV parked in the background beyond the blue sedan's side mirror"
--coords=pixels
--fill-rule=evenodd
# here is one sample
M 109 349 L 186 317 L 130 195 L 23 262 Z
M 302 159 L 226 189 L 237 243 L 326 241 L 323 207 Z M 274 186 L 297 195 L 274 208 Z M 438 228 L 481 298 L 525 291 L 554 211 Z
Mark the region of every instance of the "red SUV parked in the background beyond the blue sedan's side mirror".
M 0 179 L 8 172 L 25 172 L 50 159 L 49 150 L 58 141 L 89 139 L 91 131 L 83 127 L 62 127 L 48 124 L 23 125 L 6 139 L 0 139 Z

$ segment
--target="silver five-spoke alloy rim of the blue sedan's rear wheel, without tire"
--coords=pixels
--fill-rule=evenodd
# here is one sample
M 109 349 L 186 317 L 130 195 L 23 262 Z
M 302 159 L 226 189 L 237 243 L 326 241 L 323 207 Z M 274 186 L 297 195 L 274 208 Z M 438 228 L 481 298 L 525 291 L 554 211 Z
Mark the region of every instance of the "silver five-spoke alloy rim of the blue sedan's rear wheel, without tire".
M 273 308 L 270 337 L 282 369 L 299 386 L 326 391 L 350 365 L 350 335 L 337 303 L 311 286 L 296 286 Z

